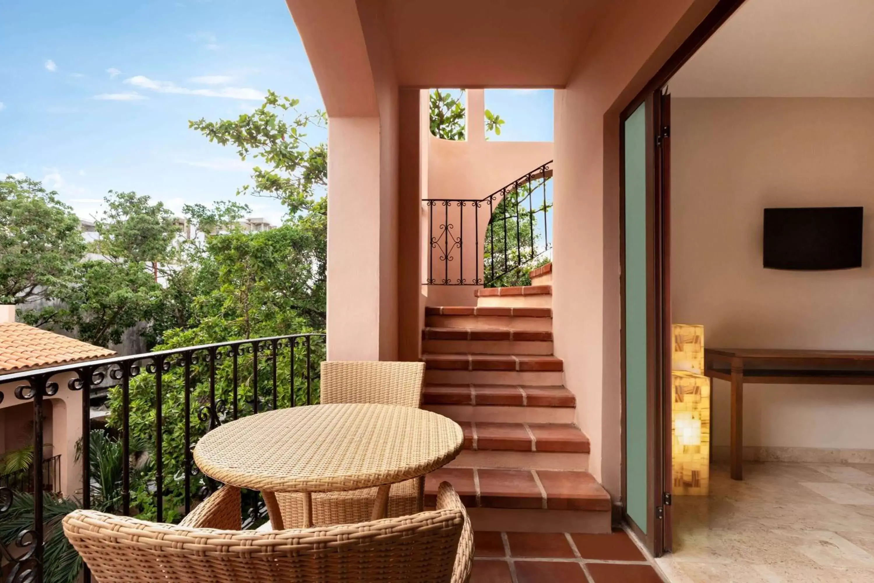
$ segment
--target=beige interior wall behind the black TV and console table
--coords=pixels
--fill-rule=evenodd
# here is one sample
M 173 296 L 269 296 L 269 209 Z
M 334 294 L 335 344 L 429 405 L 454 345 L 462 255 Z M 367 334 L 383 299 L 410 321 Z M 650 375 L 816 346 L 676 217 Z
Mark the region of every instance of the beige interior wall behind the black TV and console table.
M 674 321 L 711 347 L 874 350 L 874 99 L 672 100 Z M 864 267 L 762 267 L 762 209 L 864 206 Z M 717 380 L 714 443 L 728 443 Z M 746 446 L 874 448 L 870 386 L 746 385 Z

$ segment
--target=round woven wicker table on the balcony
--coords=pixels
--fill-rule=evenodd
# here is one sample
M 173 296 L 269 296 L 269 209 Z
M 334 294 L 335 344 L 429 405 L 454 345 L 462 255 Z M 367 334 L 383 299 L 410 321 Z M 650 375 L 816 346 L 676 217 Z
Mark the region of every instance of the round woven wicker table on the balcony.
M 312 493 L 379 486 L 373 518 L 389 491 L 440 468 L 461 451 L 461 427 L 437 413 L 396 405 L 314 405 L 225 423 L 194 448 L 198 468 L 219 482 L 257 489 L 274 529 L 283 528 L 274 492 L 301 492 L 312 525 Z

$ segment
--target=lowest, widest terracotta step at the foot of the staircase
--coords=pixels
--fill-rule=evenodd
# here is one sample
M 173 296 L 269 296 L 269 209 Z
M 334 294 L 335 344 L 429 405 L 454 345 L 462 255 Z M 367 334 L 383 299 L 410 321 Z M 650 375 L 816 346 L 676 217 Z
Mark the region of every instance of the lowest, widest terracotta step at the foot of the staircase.
M 609 532 L 610 495 L 584 471 L 440 468 L 425 476 L 425 506 L 450 482 L 476 531 Z

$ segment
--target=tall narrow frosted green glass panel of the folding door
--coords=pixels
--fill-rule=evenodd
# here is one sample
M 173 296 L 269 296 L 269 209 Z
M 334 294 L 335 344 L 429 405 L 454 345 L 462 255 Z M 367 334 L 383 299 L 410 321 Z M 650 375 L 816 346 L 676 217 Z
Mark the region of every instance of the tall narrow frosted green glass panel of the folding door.
M 625 467 L 628 516 L 647 531 L 646 111 L 625 121 Z

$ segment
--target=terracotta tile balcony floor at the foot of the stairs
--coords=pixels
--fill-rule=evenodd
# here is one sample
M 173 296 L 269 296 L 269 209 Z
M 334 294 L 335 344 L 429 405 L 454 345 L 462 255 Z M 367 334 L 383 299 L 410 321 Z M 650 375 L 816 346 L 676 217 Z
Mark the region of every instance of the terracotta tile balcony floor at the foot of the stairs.
M 662 583 L 624 531 L 474 533 L 470 583 Z

